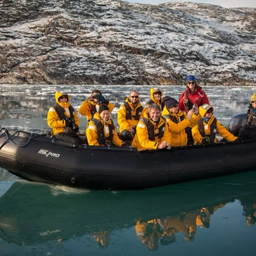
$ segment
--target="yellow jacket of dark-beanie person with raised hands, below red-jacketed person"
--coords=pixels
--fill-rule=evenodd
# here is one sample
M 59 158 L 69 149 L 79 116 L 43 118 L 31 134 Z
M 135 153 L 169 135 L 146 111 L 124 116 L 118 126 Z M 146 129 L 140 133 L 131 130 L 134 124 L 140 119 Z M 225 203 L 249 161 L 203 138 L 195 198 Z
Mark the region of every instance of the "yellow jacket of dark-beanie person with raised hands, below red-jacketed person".
M 187 133 L 185 133 L 185 128 L 187 126 L 196 126 L 199 121 L 199 115 L 196 116 L 193 114 L 192 119 L 189 121 L 188 115 L 181 110 L 179 110 L 177 114 L 170 113 L 166 106 L 164 106 L 162 116 L 168 115 L 171 115 L 172 118 L 177 120 L 177 123 L 175 123 L 170 118 L 165 118 L 166 123 L 168 123 L 169 130 L 171 131 L 171 147 L 186 146 L 188 143 L 188 137 Z M 182 116 L 184 116 L 184 119 L 181 121 Z

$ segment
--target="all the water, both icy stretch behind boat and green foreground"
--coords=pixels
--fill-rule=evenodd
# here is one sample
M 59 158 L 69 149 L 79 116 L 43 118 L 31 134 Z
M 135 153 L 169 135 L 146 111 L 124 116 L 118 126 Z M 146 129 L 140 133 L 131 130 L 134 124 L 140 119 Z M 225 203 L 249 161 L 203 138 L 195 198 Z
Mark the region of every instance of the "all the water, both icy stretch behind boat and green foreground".
M 78 108 L 91 86 L 0 85 L 1 126 L 45 133 L 54 92 Z M 136 88 L 98 86 L 119 105 Z M 161 87 L 176 99 L 184 86 Z M 245 112 L 255 87 L 206 87 L 215 116 L 227 125 Z M 81 116 L 80 116 L 81 117 Z M 85 128 L 81 117 L 81 130 Z M 0 168 L 0 255 L 253 255 L 256 170 L 131 192 L 74 190 L 26 182 Z

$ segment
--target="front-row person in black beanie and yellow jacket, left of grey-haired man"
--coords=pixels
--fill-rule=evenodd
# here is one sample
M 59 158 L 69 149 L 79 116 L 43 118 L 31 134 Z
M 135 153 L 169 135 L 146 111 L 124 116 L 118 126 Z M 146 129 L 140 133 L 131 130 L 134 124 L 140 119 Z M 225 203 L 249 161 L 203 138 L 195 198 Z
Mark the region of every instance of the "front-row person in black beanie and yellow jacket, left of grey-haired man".
M 105 104 L 99 106 L 99 112 L 89 121 L 86 135 L 90 146 L 127 147 L 127 144 L 119 139 L 116 126 L 110 118 L 109 108 Z

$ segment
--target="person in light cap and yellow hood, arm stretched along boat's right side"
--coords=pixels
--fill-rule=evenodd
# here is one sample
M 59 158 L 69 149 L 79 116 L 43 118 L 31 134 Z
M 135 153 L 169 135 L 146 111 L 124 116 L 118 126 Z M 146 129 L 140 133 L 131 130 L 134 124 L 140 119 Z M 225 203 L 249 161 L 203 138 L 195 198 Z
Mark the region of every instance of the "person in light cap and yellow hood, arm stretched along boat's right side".
M 216 143 L 216 133 L 228 141 L 237 140 L 218 119 L 213 116 L 213 106 L 204 104 L 199 107 L 199 123 L 192 128 L 192 136 L 196 144 Z

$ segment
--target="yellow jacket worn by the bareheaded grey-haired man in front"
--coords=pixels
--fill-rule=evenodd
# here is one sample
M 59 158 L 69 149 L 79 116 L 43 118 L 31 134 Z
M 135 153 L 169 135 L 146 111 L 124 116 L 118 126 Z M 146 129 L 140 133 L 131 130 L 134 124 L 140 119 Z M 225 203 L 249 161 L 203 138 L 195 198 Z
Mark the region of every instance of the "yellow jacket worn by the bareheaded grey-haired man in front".
M 138 150 L 154 150 L 157 149 L 158 144 L 161 144 L 163 141 L 167 141 L 168 144 L 171 144 L 171 133 L 164 119 L 160 116 L 159 123 L 154 123 L 147 115 L 147 112 L 144 113 L 144 117 L 154 126 L 155 134 L 159 132 L 159 128 L 164 124 L 164 136 L 161 138 L 155 137 L 154 140 L 149 140 L 147 126 L 143 122 L 143 119 L 140 119 L 137 124 L 137 132 L 133 139 L 132 147 L 137 147 Z

